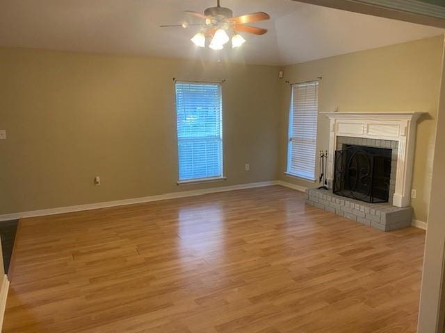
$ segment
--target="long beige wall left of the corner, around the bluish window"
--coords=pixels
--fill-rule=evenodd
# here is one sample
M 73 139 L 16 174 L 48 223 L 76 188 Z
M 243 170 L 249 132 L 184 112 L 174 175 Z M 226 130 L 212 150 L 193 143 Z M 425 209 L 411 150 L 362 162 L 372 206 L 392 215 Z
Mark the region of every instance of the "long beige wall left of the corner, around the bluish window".
M 174 77 L 227 80 L 225 182 L 176 185 Z M 275 180 L 277 83 L 268 66 L 0 49 L 0 214 Z

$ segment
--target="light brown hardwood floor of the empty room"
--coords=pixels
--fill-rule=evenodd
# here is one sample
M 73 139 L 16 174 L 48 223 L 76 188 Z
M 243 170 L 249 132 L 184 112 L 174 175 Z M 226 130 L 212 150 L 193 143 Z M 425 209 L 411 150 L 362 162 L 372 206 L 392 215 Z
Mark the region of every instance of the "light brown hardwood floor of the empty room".
M 3 332 L 415 332 L 423 242 L 279 186 L 24 219 Z

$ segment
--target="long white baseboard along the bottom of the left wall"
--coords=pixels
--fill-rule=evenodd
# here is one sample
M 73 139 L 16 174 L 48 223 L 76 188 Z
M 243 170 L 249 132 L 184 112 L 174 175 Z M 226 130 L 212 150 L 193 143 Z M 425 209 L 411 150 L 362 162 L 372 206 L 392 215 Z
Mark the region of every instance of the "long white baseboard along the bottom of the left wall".
M 124 199 L 124 200 L 106 201 L 106 202 L 102 202 L 102 203 L 88 203 L 86 205 L 57 207 L 57 208 L 49 208 L 46 210 L 33 210 L 30 212 L 3 214 L 3 215 L 0 215 L 0 221 L 24 219 L 26 217 L 47 216 L 47 215 L 54 215 L 54 214 L 80 212 L 82 210 L 97 210 L 99 208 L 115 207 L 115 206 L 123 206 L 123 205 L 133 205 L 136 203 L 149 203 L 152 201 L 174 199 L 174 198 L 185 198 L 187 196 L 201 196 L 202 194 L 234 191 L 236 189 L 252 189 L 254 187 L 265 187 L 265 186 L 271 186 L 271 185 L 278 185 L 278 181 L 271 180 L 268 182 L 251 182 L 249 184 L 211 187 L 209 189 L 195 189 L 195 190 L 191 190 L 191 191 L 179 191 L 179 192 L 172 192 L 172 193 L 166 193 L 166 194 L 159 194 L 157 196 L 145 196 L 142 198 L 131 198 L 131 199 Z

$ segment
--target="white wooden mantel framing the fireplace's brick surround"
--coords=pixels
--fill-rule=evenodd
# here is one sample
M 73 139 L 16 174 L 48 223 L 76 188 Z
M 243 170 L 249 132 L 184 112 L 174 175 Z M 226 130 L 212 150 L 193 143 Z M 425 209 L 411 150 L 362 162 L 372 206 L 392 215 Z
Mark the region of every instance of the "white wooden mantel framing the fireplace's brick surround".
M 321 112 L 330 119 L 327 180 L 332 184 L 337 137 L 361 137 L 398 142 L 393 205 L 410 205 L 416 123 L 427 112 Z

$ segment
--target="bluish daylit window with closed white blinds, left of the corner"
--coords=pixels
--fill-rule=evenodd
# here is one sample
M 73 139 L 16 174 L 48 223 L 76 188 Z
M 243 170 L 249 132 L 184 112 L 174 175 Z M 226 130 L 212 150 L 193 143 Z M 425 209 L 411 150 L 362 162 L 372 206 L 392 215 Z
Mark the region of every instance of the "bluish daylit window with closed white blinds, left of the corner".
M 176 83 L 179 182 L 223 178 L 219 83 Z

